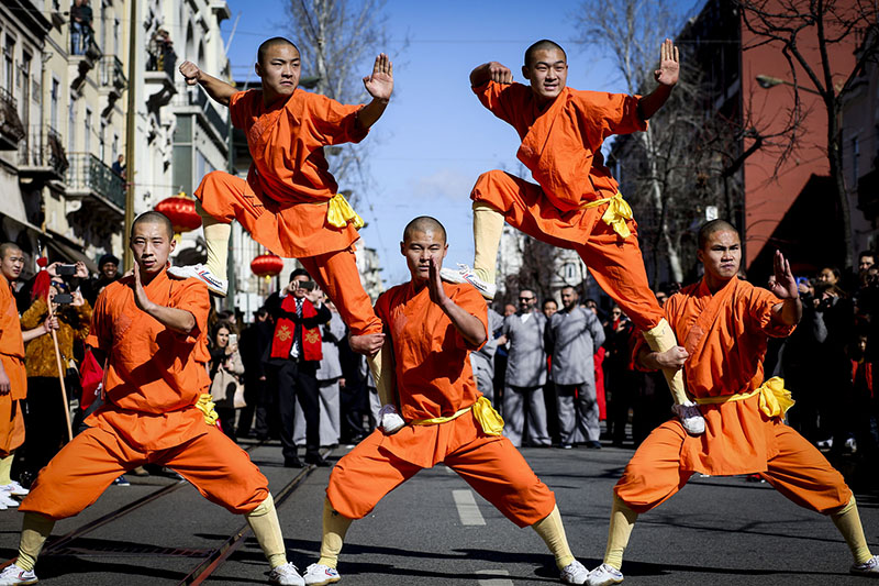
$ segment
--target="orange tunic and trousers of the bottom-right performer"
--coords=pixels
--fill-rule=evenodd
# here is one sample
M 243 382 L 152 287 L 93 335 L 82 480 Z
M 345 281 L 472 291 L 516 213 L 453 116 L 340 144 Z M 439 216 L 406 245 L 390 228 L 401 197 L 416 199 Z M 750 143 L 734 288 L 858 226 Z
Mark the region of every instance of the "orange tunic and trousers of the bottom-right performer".
M 774 317 L 772 306 L 780 302 L 766 289 L 737 278 L 714 295 L 702 280 L 669 298 L 666 314 L 690 354 L 685 379 L 697 401 L 760 387 L 768 336 L 783 338 L 793 331 Z M 766 416 L 759 401 L 757 394 L 701 405 L 702 435 L 687 434 L 677 419 L 656 428 L 614 491 L 632 510 L 645 512 L 680 490 L 694 472 L 757 473 L 793 502 L 817 512 L 847 505 L 852 491 L 842 475 L 780 417 Z

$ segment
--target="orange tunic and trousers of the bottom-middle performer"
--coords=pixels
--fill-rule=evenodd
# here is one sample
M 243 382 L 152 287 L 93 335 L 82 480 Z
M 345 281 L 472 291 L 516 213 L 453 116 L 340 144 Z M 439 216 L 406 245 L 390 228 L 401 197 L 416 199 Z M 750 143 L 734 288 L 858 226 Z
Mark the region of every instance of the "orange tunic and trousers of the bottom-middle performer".
M 470 285 L 443 284 L 446 295 L 488 330 L 482 297 Z M 471 347 L 426 286 L 398 285 L 381 295 L 376 312 L 393 342 L 401 416 L 407 421 L 454 416 L 479 397 Z M 555 495 L 501 435 L 489 435 L 472 410 L 432 425 L 408 424 L 393 435 L 374 431 L 333 468 L 326 495 L 333 509 L 360 519 L 381 498 L 422 468 L 439 462 L 519 527 L 553 512 Z

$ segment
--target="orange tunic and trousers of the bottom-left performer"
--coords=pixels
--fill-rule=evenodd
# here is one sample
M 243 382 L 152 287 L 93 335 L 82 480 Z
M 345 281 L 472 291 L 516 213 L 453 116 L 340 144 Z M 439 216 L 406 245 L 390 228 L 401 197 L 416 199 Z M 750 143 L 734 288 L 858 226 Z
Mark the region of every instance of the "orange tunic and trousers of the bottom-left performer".
M 168 278 L 165 270 L 145 287 L 152 301 L 194 316 L 196 328 L 181 334 L 137 309 L 131 284 L 126 277 L 101 292 L 87 340 L 109 356 L 107 403 L 41 471 L 20 509 L 56 520 L 70 517 L 120 474 L 154 463 L 177 471 L 232 512 L 254 510 L 268 497 L 265 476 L 196 407 L 211 383 L 207 287 L 197 279 Z

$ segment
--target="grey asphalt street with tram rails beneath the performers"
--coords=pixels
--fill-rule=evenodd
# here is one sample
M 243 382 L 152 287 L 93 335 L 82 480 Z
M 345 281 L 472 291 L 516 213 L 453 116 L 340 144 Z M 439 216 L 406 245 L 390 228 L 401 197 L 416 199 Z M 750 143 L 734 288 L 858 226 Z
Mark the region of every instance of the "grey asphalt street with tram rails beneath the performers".
M 340 447 L 332 458 L 345 452 Z M 253 446 L 251 453 L 280 497 L 288 552 L 303 568 L 318 557 L 330 471 L 302 474 L 302 482 L 285 491 L 300 471 L 280 466 L 280 447 Z M 611 487 L 632 451 L 531 449 L 524 454 L 555 490 L 575 554 L 588 567 L 597 565 L 604 551 Z M 86 512 L 59 522 L 53 535 L 169 488 L 81 537 L 51 544 L 37 565 L 41 584 L 265 582 L 267 566 L 249 533 L 226 552 L 227 560 L 210 564 L 211 552 L 244 527 L 242 517 L 211 505 L 188 484 L 130 478 L 131 487 L 110 487 Z M 868 541 L 879 551 L 879 502 L 859 496 L 859 507 Z M 19 513 L 0 512 L 3 560 L 15 554 L 20 521 Z M 633 586 L 869 584 L 849 576 L 849 564 L 848 550 L 828 519 L 800 509 L 766 484 L 693 478 L 680 495 L 641 518 L 623 571 Z M 203 566 L 210 566 L 209 574 Z M 518 529 L 481 497 L 474 498 L 444 466 L 419 474 L 352 526 L 340 572 L 348 586 L 558 583 L 537 534 Z

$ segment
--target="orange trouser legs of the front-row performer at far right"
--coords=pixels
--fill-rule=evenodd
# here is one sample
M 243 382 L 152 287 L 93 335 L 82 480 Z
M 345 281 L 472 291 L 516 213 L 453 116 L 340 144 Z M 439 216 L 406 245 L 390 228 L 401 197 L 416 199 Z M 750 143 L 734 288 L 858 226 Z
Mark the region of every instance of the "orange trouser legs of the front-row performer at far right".
M 788 425 L 774 425 L 778 454 L 758 473 L 783 496 L 806 509 L 831 513 L 848 504 L 852 490 L 830 462 Z M 683 488 L 692 471 L 681 469 L 680 451 L 687 432 L 667 421 L 632 456 L 614 493 L 635 512 L 646 512 Z

